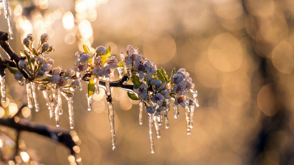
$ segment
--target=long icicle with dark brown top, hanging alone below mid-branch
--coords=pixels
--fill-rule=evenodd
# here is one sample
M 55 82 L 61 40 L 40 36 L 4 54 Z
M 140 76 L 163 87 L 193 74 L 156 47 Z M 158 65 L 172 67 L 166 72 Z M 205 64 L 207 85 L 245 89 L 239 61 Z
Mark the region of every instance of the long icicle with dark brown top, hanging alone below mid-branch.
M 112 96 L 106 95 L 106 100 L 108 104 L 108 119 L 110 124 L 110 131 L 111 131 L 111 142 L 112 142 L 112 150 L 114 150 L 115 147 L 115 132 L 114 132 L 114 112 L 113 112 L 113 98 Z

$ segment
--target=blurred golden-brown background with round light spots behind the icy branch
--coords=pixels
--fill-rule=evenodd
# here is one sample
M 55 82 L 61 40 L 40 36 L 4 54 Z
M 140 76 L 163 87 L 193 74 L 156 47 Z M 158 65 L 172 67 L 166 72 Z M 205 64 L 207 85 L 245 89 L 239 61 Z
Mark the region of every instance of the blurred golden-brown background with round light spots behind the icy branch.
M 36 41 L 48 33 L 55 47 L 49 54 L 54 66 L 72 68 L 74 53 L 83 44 L 91 50 L 111 46 L 116 55 L 131 44 L 168 75 L 174 67 L 186 68 L 193 78 L 200 108 L 192 134 L 186 133 L 180 109 L 177 120 L 170 115 L 169 129 L 161 126 L 155 154 L 150 152 L 147 115 L 139 125 L 138 102 L 126 91 L 113 89 L 115 151 L 105 96 L 94 95 L 93 111 L 88 112 L 86 91 L 76 91 L 74 130 L 84 165 L 294 164 L 294 1 L 11 0 L 9 5 L 15 32 L 11 47 L 23 50 L 28 33 Z M 8 31 L 2 8 L 0 30 Z M 25 87 L 9 73 L 6 81 L 15 104 L 25 103 Z M 40 112 L 24 109 L 23 116 L 54 125 L 38 94 Z M 15 113 L 15 105 L 7 106 Z M 69 130 L 67 113 L 61 127 Z M 69 164 L 72 159 L 52 139 L 27 132 L 20 139 L 36 162 Z

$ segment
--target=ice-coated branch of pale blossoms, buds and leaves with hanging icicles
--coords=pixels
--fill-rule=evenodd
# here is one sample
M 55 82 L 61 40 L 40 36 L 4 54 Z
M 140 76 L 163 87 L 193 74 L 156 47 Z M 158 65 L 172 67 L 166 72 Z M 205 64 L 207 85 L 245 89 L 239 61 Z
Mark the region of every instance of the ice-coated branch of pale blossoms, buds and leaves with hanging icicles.
M 76 52 L 77 58 L 73 68 L 64 69 L 54 65 L 54 60 L 46 57 L 54 51 L 54 47 L 48 43 L 49 35 L 40 37 L 39 45 L 33 46 L 34 37 L 29 34 L 24 38 L 27 50 L 19 51 L 20 60 L 14 67 L 7 64 L 10 73 L 20 85 L 26 84 L 28 107 L 35 107 L 39 111 L 39 103 L 36 94 L 37 89 L 42 91 L 49 110 L 50 118 L 55 116 L 56 126 L 60 126 L 60 115 L 63 114 L 62 96 L 68 103 L 70 128 L 74 129 L 74 91 L 83 90 L 83 82 L 87 84 L 86 98 L 88 111 L 92 110 L 93 95 L 99 94 L 101 88 L 106 95 L 108 104 L 108 119 L 111 128 L 112 149 L 116 148 L 114 132 L 114 110 L 111 87 L 127 90 L 128 97 L 139 101 L 139 124 L 143 124 L 143 108 L 148 116 L 149 138 L 151 152 L 154 153 L 153 125 L 156 136 L 161 137 L 159 126 L 169 128 L 168 112 L 171 100 L 173 100 L 173 116 L 179 117 L 179 105 L 184 108 L 187 123 L 187 134 L 191 134 L 193 128 L 193 113 L 195 107 L 199 107 L 197 91 L 188 72 L 180 68 L 177 72 L 173 68 L 168 77 L 163 68 L 157 68 L 154 61 L 139 54 L 138 48 L 128 45 L 126 53 L 120 54 L 120 59 L 111 53 L 111 47 L 97 46 L 95 52 L 91 52 L 87 46 L 83 46 L 84 52 Z M 114 70 L 118 70 L 119 80 L 115 80 Z M 124 74 L 125 73 L 125 74 Z M 5 75 L 0 78 L 1 94 L 3 102 L 6 100 Z M 112 84 L 112 85 L 111 85 Z M 132 85 L 130 85 L 132 84 Z M 99 89 L 100 88 L 100 89 Z M 191 96 L 191 97 L 190 97 Z

